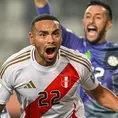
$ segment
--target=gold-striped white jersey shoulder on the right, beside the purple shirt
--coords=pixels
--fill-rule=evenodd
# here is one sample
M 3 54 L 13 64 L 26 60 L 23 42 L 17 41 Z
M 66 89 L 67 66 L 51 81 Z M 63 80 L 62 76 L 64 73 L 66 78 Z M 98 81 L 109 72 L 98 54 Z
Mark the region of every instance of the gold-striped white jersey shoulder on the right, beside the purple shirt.
M 64 56 L 65 58 L 69 59 L 70 62 L 77 64 L 77 65 L 83 65 L 84 67 L 88 68 L 88 70 L 91 70 L 91 62 L 88 59 L 87 56 L 80 53 L 78 50 L 73 50 L 66 48 L 64 46 L 61 46 L 60 48 L 60 54 L 61 56 Z

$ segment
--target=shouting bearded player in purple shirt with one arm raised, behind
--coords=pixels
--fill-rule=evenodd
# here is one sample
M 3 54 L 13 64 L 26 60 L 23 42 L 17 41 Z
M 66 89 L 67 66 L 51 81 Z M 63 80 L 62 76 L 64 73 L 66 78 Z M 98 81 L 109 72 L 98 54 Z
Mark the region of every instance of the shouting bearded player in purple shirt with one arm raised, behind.
M 53 14 L 48 0 L 35 0 L 38 14 Z M 62 45 L 79 50 L 92 62 L 95 78 L 118 96 L 118 45 L 106 40 L 112 27 L 112 10 L 99 0 L 92 0 L 86 7 L 83 26 L 85 38 L 77 37 L 62 26 Z M 113 112 L 91 99 L 81 88 L 79 94 L 84 102 L 87 118 L 118 118 Z

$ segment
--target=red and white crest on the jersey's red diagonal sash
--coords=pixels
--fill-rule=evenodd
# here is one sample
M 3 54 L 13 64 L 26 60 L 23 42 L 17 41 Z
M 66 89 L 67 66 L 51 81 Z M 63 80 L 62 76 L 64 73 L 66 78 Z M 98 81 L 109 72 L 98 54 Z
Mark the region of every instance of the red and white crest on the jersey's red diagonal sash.
M 61 76 L 61 85 L 68 88 L 71 85 L 71 76 Z

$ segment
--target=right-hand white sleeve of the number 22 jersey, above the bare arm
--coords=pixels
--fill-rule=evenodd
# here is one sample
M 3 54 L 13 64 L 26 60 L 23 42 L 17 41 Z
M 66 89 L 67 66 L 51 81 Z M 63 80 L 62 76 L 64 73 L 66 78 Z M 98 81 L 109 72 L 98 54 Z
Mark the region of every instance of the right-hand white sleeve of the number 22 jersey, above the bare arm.
M 95 89 L 99 82 L 95 79 L 94 72 L 92 69 L 92 64 L 90 60 L 83 54 L 81 54 L 78 50 L 75 51 L 79 57 L 79 64 L 77 66 L 77 72 L 80 75 L 80 84 L 85 90 L 93 90 Z M 81 69 L 80 69 L 81 67 Z

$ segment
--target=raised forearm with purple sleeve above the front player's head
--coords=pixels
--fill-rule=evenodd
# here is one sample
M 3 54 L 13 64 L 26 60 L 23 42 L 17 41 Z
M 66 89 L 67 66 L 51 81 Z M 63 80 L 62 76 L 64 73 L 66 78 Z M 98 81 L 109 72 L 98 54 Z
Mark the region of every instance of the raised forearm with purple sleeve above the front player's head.
M 34 0 L 37 14 L 51 14 L 53 15 L 53 11 L 48 0 Z

